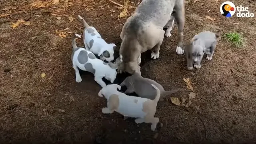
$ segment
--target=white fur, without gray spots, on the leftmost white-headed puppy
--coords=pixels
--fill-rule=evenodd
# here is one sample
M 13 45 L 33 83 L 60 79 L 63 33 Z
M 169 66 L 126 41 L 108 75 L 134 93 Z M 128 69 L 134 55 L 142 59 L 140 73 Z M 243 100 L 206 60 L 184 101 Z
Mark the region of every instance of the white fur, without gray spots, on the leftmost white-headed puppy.
M 84 48 L 79 48 L 78 50 L 76 50 L 76 52 L 74 52 L 74 57 L 73 57 L 72 63 L 73 63 L 73 68 L 74 68 L 74 70 L 76 72 L 76 82 L 81 82 L 82 81 L 82 78 L 80 76 L 78 68 L 80 68 L 81 70 L 86 71 L 84 65 L 86 63 L 91 63 L 92 67 L 95 70 L 94 80 L 98 84 L 100 84 L 101 87 L 106 86 L 105 82 L 103 82 L 103 80 L 102 80 L 103 77 L 106 78 L 107 80 L 110 80 L 110 82 L 113 83 L 114 80 L 116 79 L 117 72 L 116 72 L 115 69 L 110 68 L 110 66 L 108 64 L 107 65 L 104 64 L 102 60 L 99 60 L 97 58 L 90 59 L 88 57 L 88 61 L 85 64 L 80 64 L 78 62 L 78 54 L 82 50 L 86 51 L 87 54 L 92 53 L 92 52 L 90 52 L 90 51 L 88 51 L 88 50 L 86 50 Z

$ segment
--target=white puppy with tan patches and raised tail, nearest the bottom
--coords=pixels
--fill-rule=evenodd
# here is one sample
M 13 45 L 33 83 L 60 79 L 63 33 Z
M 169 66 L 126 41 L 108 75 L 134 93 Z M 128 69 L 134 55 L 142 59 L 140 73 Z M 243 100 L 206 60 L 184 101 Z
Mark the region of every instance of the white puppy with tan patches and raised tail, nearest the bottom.
M 154 115 L 160 98 L 160 90 L 154 84 L 152 86 L 156 89 L 156 98 L 154 100 L 128 96 L 117 90 L 121 89 L 121 86 L 118 84 L 107 85 L 98 93 L 100 97 L 105 96 L 108 100 L 107 107 L 102 108 L 102 113 L 111 114 L 116 111 L 124 115 L 124 117 L 136 118 L 136 124 L 142 122 L 151 123 L 151 130 L 154 131 L 159 122 L 159 118 L 154 117 Z

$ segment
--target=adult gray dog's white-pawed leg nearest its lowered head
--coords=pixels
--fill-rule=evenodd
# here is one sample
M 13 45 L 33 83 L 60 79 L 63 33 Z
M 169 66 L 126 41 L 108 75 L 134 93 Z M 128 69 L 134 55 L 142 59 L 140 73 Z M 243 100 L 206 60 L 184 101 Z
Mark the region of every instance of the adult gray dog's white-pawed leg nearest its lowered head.
M 158 43 L 152 48 L 153 51 L 151 53 L 151 58 L 153 58 L 153 59 L 159 58 L 160 46 L 162 45 L 162 42 L 164 40 L 164 30 L 157 29 L 157 34 L 155 36 L 157 36 L 154 38 L 156 38 L 156 40 L 158 40 Z

